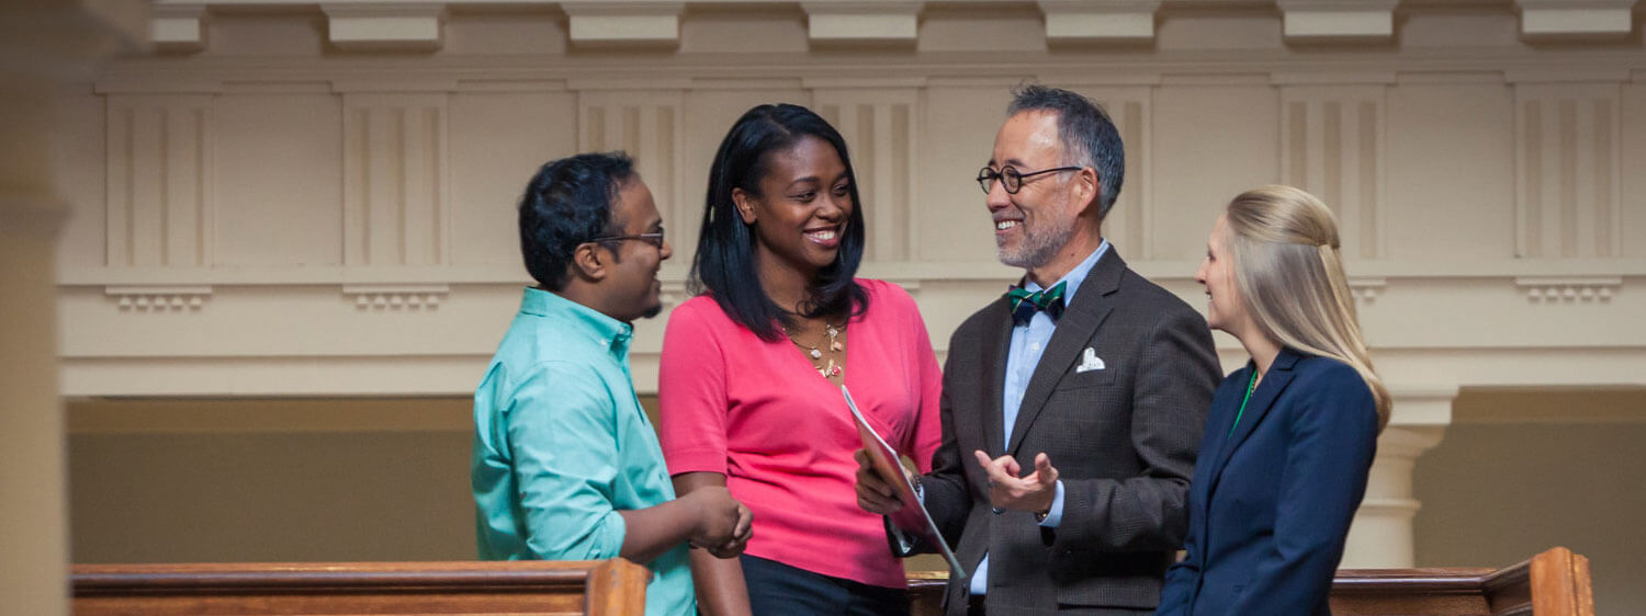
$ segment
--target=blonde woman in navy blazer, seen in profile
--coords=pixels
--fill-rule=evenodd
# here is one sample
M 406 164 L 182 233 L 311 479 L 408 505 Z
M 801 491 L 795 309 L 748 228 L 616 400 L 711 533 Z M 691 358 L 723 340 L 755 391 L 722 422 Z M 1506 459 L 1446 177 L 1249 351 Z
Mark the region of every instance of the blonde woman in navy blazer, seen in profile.
M 1355 320 L 1332 212 L 1266 186 L 1234 197 L 1195 279 L 1251 361 L 1218 388 L 1188 491 L 1187 557 L 1157 614 L 1330 614 L 1389 394 Z

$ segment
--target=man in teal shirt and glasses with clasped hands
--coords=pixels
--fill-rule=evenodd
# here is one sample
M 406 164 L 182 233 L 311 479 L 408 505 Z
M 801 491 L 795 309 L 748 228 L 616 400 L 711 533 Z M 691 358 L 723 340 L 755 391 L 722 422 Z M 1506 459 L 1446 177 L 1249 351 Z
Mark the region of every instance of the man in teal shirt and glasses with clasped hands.
M 647 614 L 693 614 L 688 542 L 729 559 L 749 509 L 724 488 L 677 499 L 629 375 L 632 320 L 662 309 L 670 256 L 652 192 L 621 154 L 538 169 L 520 200 L 537 287 L 474 391 L 481 559 L 645 563 Z

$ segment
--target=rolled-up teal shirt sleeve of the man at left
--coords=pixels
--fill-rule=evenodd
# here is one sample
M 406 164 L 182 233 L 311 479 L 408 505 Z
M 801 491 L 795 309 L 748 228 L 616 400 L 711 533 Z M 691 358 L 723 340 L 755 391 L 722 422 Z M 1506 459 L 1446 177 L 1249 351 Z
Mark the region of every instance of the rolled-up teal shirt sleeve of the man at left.
M 527 547 L 546 560 L 602 560 L 622 552 L 616 406 L 588 366 L 538 365 L 522 375 L 507 412 Z

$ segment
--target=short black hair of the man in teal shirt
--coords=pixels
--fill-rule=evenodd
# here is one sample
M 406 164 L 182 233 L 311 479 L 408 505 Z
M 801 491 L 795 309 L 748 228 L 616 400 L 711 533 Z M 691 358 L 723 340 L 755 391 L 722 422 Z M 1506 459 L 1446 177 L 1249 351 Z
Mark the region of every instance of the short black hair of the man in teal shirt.
M 616 235 L 621 220 L 612 205 L 634 176 L 634 159 L 621 151 L 568 156 L 537 169 L 520 197 L 520 256 L 538 284 L 565 289 L 578 245 Z

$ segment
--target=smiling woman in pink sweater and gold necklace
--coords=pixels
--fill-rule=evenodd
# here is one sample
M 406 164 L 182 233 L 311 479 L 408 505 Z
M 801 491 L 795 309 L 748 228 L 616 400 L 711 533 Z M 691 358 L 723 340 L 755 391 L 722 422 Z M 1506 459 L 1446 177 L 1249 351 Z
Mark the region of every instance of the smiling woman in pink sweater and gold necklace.
M 660 373 L 675 490 L 724 485 L 754 511 L 742 559 L 693 550 L 706 614 L 909 611 L 882 521 L 856 504 L 839 386 L 927 471 L 942 379 L 914 299 L 854 278 L 863 220 L 846 143 L 811 110 L 756 107 L 721 141 L 698 296 L 670 315 Z

